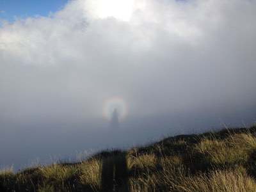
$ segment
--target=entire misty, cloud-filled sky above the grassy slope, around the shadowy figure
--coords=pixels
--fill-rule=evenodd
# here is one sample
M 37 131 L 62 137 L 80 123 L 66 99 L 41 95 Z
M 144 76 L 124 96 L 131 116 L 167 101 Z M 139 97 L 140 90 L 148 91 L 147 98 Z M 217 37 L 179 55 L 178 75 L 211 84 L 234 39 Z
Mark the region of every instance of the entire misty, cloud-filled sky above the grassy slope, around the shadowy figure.
M 255 123 L 255 1 L 8 2 L 1 166 Z

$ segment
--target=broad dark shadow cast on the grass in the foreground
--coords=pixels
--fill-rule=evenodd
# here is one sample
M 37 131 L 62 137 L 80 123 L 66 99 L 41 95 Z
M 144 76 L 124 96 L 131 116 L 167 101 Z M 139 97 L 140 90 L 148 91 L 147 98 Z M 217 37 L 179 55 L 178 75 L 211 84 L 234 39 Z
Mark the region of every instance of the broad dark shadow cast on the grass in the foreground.
M 109 155 L 102 158 L 102 192 L 128 192 L 128 171 L 125 152 L 113 151 Z

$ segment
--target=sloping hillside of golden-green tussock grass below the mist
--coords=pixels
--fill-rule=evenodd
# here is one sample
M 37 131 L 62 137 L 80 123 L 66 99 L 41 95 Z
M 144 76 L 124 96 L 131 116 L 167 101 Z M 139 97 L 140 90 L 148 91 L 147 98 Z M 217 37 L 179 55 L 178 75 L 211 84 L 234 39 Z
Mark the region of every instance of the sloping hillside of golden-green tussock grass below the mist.
M 0 191 L 256 191 L 256 126 L 0 172 Z

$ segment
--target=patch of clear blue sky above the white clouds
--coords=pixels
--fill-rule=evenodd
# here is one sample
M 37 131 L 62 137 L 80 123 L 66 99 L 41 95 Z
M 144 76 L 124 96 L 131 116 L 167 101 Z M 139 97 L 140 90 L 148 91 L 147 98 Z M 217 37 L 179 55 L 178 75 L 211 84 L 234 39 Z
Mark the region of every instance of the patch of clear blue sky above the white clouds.
M 12 22 L 15 17 L 47 16 L 60 10 L 68 0 L 0 0 L 0 19 Z

